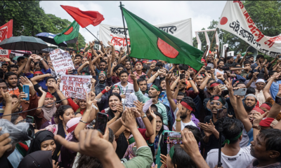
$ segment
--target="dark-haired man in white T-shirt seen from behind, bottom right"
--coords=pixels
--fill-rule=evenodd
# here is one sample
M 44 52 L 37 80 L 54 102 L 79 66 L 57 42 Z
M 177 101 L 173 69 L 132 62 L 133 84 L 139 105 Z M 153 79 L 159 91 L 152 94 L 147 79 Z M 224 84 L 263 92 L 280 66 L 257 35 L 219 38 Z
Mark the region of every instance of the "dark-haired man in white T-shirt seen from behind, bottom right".
M 225 118 L 223 120 L 223 136 L 226 143 L 221 148 L 221 163 L 223 167 L 246 167 L 254 158 L 250 154 L 250 146 L 240 148 L 242 140 L 243 124 L 240 120 Z M 206 162 L 209 167 L 216 167 L 218 164 L 218 149 L 209 151 Z

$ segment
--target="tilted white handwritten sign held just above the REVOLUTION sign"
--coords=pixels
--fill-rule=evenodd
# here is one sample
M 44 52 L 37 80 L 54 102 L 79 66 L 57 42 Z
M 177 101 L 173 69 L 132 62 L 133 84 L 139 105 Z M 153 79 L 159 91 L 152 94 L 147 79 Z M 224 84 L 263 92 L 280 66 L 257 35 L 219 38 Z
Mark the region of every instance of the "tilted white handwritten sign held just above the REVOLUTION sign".
M 74 69 L 71 56 L 65 50 L 55 49 L 50 52 L 50 57 L 57 76 L 65 75 L 67 69 Z

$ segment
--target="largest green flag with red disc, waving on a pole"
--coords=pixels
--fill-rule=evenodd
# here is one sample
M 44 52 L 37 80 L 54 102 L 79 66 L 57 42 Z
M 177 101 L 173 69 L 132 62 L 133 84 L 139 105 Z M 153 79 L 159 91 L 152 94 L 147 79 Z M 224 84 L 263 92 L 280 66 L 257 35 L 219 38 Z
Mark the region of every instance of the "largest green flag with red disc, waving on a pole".
M 126 8 L 122 10 L 129 29 L 131 57 L 188 64 L 197 71 L 203 66 L 201 57 L 204 52 L 150 25 Z

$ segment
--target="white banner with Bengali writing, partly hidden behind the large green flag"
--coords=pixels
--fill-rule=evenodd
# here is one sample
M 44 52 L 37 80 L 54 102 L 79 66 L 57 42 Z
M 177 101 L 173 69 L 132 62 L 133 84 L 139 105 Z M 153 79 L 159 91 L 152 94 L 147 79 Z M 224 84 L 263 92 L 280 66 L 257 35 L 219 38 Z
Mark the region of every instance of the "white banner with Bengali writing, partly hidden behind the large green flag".
M 178 22 L 171 22 L 162 25 L 155 25 L 159 29 L 166 31 L 176 38 L 181 39 L 185 43 L 192 45 L 192 25 L 191 18 L 187 20 L 181 20 Z M 128 29 L 126 28 L 127 40 L 130 45 L 130 38 Z M 108 46 L 107 41 L 110 41 L 115 45 L 115 48 L 119 50 L 120 47 L 126 46 L 126 38 L 124 34 L 124 27 L 104 25 L 100 24 L 100 41 L 103 41 L 105 46 Z

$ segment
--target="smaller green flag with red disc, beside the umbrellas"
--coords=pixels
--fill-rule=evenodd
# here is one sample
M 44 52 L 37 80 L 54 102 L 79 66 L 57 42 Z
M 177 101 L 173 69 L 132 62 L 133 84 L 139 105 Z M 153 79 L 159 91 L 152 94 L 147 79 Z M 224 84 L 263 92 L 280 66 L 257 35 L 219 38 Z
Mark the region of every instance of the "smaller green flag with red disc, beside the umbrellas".
M 63 43 L 63 41 L 65 41 L 66 43 L 76 43 L 78 34 L 79 24 L 74 20 L 69 27 L 64 29 L 63 32 L 55 36 L 55 38 L 53 39 L 57 44 Z

